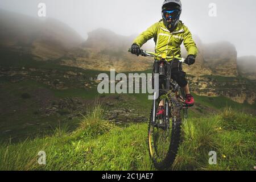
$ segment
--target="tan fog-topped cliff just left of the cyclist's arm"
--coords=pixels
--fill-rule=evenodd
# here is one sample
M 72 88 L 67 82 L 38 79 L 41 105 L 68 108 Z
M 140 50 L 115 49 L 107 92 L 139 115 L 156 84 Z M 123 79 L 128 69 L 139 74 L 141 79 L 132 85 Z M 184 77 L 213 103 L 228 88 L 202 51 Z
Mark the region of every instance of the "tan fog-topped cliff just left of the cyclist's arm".
M 100 28 L 89 32 L 86 42 L 69 51 L 62 64 L 100 71 L 110 71 L 112 68 L 118 72 L 150 69 L 152 59 L 128 52 L 133 39 L 133 36 L 121 36 Z

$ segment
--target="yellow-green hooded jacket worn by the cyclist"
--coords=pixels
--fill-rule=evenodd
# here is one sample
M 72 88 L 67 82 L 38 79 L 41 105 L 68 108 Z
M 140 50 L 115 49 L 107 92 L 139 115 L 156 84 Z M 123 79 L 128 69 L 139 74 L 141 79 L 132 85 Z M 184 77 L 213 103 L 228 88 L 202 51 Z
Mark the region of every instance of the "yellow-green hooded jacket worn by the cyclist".
M 139 47 L 142 47 L 148 40 L 154 38 L 155 52 L 160 53 L 166 51 L 167 56 L 181 57 L 180 45 L 183 42 L 188 51 L 188 55 L 197 55 L 198 49 L 194 40 L 192 39 L 191 32 L 180 21 L 174 31 L 170 32 L 164 26 L 163 20 L 153 24 L 146 31 L 142 32 L 135 40 Z M 168 51 L 171 49 L 172 51 Z

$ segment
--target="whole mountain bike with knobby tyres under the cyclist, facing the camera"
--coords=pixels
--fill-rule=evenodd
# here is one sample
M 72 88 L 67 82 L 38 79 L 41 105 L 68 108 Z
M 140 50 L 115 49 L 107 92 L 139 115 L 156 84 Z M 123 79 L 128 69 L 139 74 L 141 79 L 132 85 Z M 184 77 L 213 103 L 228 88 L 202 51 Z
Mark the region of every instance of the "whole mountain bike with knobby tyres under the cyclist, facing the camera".
M 171 79 L 172 62 L 177 60 L 183 63 L 185 59 L 161 53 L 162 55 L 141 50 L 139 55 L 159 58 L 155 59 L 152 71 L 152 83 L 154 75 L 159 74 L 159 88 L 155 89 L 158 98 L 155 97 L 153 100 L 148 124 L 148 151 L 155 168 L 165 170 L 170 169 L 176 158 L 180 144 L 181 122 L 188 118 L 188 106 L 185 104 L 185 93 L 177 82 Z M 154 84 L 152 85 L 154 88 Z M 160 103 L 164 107 L 164 112 L 157 115 Z

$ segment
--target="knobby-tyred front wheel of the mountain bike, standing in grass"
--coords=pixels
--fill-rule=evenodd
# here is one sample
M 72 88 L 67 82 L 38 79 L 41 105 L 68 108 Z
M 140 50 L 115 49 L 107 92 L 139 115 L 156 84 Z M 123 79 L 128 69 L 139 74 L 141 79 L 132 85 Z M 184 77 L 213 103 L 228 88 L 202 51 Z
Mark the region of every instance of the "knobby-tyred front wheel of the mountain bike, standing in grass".
M 155 122 L 153 122 L 154 112 L 152 109 L 148 125 L 148 150 L 150 158 L 154 166 L 160 170 L 169 169 L 174 163 L 181 134 L 179 102 L 175 97 L 165 97 L 167 93 L 167 90 L 159 90 L 159 98 L 156 100 L 155 108 L 158 108 L 161 101 L 164 104 L 168 103 L 170 105 L 168 117 L 158 115 L 155 117 Z

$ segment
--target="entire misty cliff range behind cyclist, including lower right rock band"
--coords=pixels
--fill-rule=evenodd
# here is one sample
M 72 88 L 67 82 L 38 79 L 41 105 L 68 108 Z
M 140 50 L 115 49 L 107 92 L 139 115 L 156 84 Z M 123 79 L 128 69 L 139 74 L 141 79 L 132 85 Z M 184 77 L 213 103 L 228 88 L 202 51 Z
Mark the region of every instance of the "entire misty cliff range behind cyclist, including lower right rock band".
M 137 72 L 152 69 L 154 63 L 152 57 L 137 57 L 127 52 L 135 36 L 121 36 L 100 28 L 90 32 L 84 42 L 72 28 L 56 20 L 38 20 L 2 10 L 0 24 L 1 65 L 10 65 L 14 59 L 22 65 L 22 61 L 31 57 L 96 71 Z M 203 96 L 226 96 L 253 104 L 256 84 L 241 80 L 240 76 L 256 79 L 256 57 L 237 60 L 236 48 L 230 43 L 204 44 L 198 37 L 194 39 L 199 48 L 196 64 L 183 66 L 191 90 Z M 143 49 L 154 50 L 154 47 L 147 45 Z

